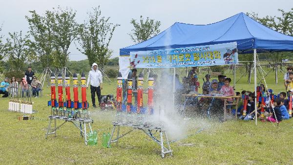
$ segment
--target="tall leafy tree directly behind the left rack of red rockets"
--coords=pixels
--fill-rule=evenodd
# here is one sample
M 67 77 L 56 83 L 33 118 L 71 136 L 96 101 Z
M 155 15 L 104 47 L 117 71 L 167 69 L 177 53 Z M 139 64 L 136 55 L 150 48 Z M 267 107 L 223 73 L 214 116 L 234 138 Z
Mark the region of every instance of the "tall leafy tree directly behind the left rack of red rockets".
M 59 68 L 65 67 L 69 59 L 69 46 L 77 38 L 81 27 L 75 20 L 76 11 L 71 8 L 62 9 L 59 6 L 57 9 L 53 8 L 53 11 L 46 11 L 46 15 L 55 50 L 53 64 Z

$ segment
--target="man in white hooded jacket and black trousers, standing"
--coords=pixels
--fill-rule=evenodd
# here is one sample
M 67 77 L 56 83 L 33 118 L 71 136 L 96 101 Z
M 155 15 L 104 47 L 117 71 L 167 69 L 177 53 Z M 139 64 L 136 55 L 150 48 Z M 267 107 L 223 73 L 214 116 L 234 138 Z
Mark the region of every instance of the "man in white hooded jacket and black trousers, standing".
M 86 82 L 86 89 L 90 83 L 90 93 L 92 98 L 93 107 L 96 108 L 96 99 L 95 93 L 98 95 L 99 105 L 101 103 L 101 90 L 103 90 L 102 83 L 103 83 L 103 76 L 102 73 L 98 70 L 98 65 L 93 63 L 92 70 L 89 71 L 87 82 Z

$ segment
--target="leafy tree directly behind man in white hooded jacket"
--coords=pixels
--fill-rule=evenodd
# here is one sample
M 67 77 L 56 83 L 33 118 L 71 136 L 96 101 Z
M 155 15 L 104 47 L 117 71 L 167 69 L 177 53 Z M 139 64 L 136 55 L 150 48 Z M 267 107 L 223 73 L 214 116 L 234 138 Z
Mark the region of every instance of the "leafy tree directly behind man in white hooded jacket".
M 110 17 L 102 17 L 100 6 L 87 13 L 88 18 L 80 30 L 77 49 L 87 56 L 89 65 L 96 62 L 99 67 L 109 60 L 112 50 L 108 48 L 113 32 L 119 24 L 109 22 Z

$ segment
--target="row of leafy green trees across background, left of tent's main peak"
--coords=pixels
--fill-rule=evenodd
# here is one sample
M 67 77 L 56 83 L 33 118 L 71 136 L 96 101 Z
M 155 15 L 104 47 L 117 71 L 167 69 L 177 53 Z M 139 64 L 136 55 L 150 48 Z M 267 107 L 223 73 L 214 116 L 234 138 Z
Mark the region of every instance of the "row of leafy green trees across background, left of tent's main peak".
M 6 42 L 0 36 L 0 70 L 9 67 L 23 70 L 27 65 L 42 68 L 63 68 L 69 61 L 69 46 L 87 56 L 87 66 L 96 62 L 99 67 L 117 65 L 118 59 L 110 60 L 112 50 L 109 43 L 119 24 L 111 23 L 110 17 L 102 16 L 99 7 L 87 13 L 83 23 L 76 21 L 76 11 L 72 8 L 53 8 L 43 14 L 35 10 L 25 16 L 29 31 L 26 35 L 20 32 L 9 32 Z M 157 35 L 160 21 L 142 16 L 140 20 L 131 19 L 134 26 L 129 36 L 135 42 L 141 42 Z M 0 27 L 0 32 L 1 32 Z M 67 63 L 67 64 L 66 64 Z M 74 63 L 74 62 L 73 62 Z M 7 68 L 6 68 L 7 69 Z

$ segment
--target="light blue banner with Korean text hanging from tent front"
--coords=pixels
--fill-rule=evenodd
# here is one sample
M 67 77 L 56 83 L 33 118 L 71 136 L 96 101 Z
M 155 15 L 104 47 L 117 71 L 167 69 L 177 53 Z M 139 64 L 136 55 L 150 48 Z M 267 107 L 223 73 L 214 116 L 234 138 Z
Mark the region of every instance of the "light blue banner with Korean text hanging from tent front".
M 237 43 L 130 52 L 132 68 L 177 68 L 238 64 Z

